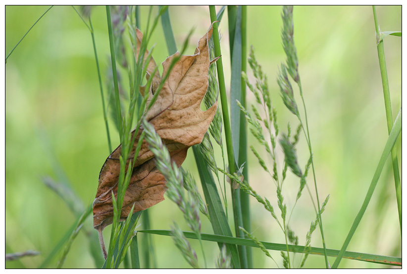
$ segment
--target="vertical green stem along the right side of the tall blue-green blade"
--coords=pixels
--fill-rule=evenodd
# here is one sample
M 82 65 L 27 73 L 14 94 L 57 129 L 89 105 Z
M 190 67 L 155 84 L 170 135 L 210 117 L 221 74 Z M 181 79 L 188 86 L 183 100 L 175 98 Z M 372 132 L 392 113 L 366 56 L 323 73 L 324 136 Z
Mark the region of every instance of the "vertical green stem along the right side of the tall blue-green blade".
M 242 6 L 242 71 L 247 72 L 247 6 Z M 240 94 L 240 103 L 246 108 L 246 82 L 241 77 L 242 92 Z M 240 138 L 239 138 L 239 157 L 238 165 L 245 164 L 242 175 L 247 184 L 249 184 L 249 165 L 247 157 L 247 121 L 244 115 L 240 115 Z M 243 218 L 243 227 L 246 231 L 252 231 L 249 195 L 245 192 L 240 193 L 240 202 Z M 252 247 L 246 247 L 248 268 L 253 268 Z

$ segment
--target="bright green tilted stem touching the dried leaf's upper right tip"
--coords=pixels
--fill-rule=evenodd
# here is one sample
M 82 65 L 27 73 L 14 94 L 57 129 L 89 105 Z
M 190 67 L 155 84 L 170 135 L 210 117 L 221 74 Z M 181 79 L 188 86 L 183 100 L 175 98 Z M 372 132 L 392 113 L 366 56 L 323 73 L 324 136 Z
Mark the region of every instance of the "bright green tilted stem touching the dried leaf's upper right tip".
M 223 114 L 223 125 L 225 128 L 225 138 L 226 138 L 226 149 L 228 154 L 228 162 L 229 162 L 229 171 L 231 174 L 236 172 L 236 163 L 235 157 L 233 153 L 233 145 L 232 145 L 232 133 L 230 129 L 230 120 L 229 120 L 229 111 L 227 106 L 227 97 L 226 97 L 226 87 L 225 87 L 225 78 L 223 76 L 223 65 L 222 65 L 222 54 L 220 52 L 220 43 L 219 43 L 219 33 L 217 23 L 213 23 L 216 21 L 216 10 L 214 5 L 209 6 L 209 13 L 210 13 L 210 21 L 213 24 L 213 44 L 215 48 L 215 56 L 219 56 L 219 59 L 216 61 L 216 68 L 218 73 L 218 80 L 219 80 L 219 93 L 220 93 L 220 101 L 222 106 L 222 114 Z M 236 236 L 240 238 L 244 238 L 244 233 L 239 229 L 239 227 L 243 227 L 243 220 L 242 220 L 242 211 L 240 205 L 240 192 L 239 188 L 233 188 L 233 182 L 231 184 L 231 192 L 232 192 L 232 204 L 233 204 L 233 215 L 235 221 L 235 232 Z M 239 246 L 240 247 L 240 246 Z M 239 248 L 238 247 L 238 248 Z M 241 261 L 241 267 L 247 268 L 247 256 L 246 256 L 246 249 L 239 248 L 239 257 Z

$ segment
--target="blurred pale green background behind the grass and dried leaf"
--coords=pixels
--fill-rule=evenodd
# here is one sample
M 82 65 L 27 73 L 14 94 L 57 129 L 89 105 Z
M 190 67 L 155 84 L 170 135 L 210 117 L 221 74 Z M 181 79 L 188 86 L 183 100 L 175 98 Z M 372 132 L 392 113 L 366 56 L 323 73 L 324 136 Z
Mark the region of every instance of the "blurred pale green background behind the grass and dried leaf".
M 6 55 L 47 8 L 5 7 Z M 382 31 L 401 31 L 401 6 L 377 6 L 376 9 Z M 143 6 L 141 10 L 144 27 L 148 7 Z M 286 132 L 287 122 L 290 121 L 293 128 L 298 123 L 282 104 L 275 80 L 277 66 L 285 60 L 280 38 L 281 10 L 281 6 L 248 6 L 248 44 L 254 46 L 256 58 L 267 74 L 280 132 Z M 153 14 L 156 11 L 154 7 Z M 187 54 L 192 54 L 196 42 L 210 24 L 207 6 L 170 6 L 169 13 L 178 47 L 189 30 L 195 28 L 187 51 Z M 105 83 L 109 42 L 104 6 L 92 9 L 92 20 Z M 340 249 L 362 204 L 388 136 L 372 7 L 295 6 L 294 24 L 318 192 L 322 200 L 330 195 L 322 216 L 326 244 L 328 248 Z M 223 35 L 222 58 L 226 88 L 229 90 L 227 12 L 219 29 Z M 153 57 L 159 64 L 168 55 L 160 23 L 151 45 L 154 43 Z M 402 103 L 401 46 L 401 38 L 389 36 L 384 40 L 394 117 Z M 160 69 L 162 71 L 162 67 Z M 250 69 L 248 75 L 253 81 Z M 37 268 L 76 218 L 65 203 L 43 184 L 42 178 L 50 176 L 60 181 L 65 174 L 72 189 L 87 206 L 95 197 L 99 171 L 109 155 L 91 35 L 71 6 L 51 8 L 8 58 L 5 102 L 5 252 L 34 249 L 42 253 L 6 262 L 5 267 Z M 248 103 L 253 102 L 254 96 L 248 91 Z M 118 134 L 110 118 L 109 122 L 113 147 L 116 147 L 119 144 Z M 262 152 L 252 136 L 249 144 Z M 401 136 L 397 145 L 401 166 Z M 218 165 L 221 166 L 220 150 L 215 149 Z M 300 164 L 304 166 L 309 156 L 304 136 L 300 138 L 298 155 Z M 266 157 L 265 154 L 263 156 Z M 278 157 L 282 160 L 281 151 Z M 263 172 L 251 152 L 248 161 L 250 184 L 276 204 L 271 178 Z M 271 164 L 268 158 L 267 163 Z M 61 167 L 59 171 L 58 165 Z M 183 167 L 193 171 L 199 180 L 191 151 Z M 312 182 L 311 178 L 308 177 L 309 182 Z M 289 209 L 295 202 L 298 185 L 298 179 L 291 175 L 285 183 L 284 196 Z M 231 204 L 230 197 L 228 201 Z M 253 198 L 251 209 L 254 235 L 264 241 L 284 242 L 275 220 Z M 180 210 L 168 199 L 149 210 L 152 229 L 169 229 L 174 220 L 181 228 L 189 230 Z M 231 211 L 229 215 L 232 215 Z M 305 243 L 306 232 L 314 219 L 309 196 L 304 192 L 291 220 L 291 227 L 299 236 L 299 244 Z M 212 233 L 210 223 L 204 216 L 202 220 L 202 231 Z M 91 218 L 86 228 L 96 234 Z M 108 231 L 107 228 L 106 241 Z M 140 239 L 143 236 L 140 235 Z M 189 267 L 170 237 L 153 236 L 153 242 L 157 267 Z M 199 243 L 195 240 L 191 243 L 203 266 Z M 319 229 L 314 232 L 311 245 L 322 246 Z M 204 249 L 208 266 L 214 267 L 219 253 L 216 243 L 204 243 Z M 401 256 L 395 187 L 389 160 L 348 250 Z M 282 266 L 279 252 L 270 253 Z M 300 256 L 296 256 L 299 261 Z M 334 259 L 329 260 L 332 265 Z M 55 267 L 55 263 L 56 260 L 52 261 L 50 267 Z M 276 267 L 256 248 L 254 266 Z M 95 267 L 83 232 L 74 241 L 64 267 Z M 325 267 L 323 257 L 310 255 L 305 267 Z M 344 259 L 340 267 L 386 266 Z

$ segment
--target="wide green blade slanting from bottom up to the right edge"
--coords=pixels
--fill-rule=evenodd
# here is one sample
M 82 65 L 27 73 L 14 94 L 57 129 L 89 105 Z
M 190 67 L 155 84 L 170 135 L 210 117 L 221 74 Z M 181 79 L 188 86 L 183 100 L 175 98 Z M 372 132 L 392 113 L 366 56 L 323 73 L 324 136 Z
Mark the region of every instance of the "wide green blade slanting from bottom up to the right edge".
M 387 139 L 382 156 L 380 157 L 376 171 L 373 175 L 372 182 L 370 183 L 370 187 L 367 191 L 366 197 L 364 198 L 362 207 L 360 208 L 359 213 L 357 213 L 357 215 L 356 215 L 356 218 L 351 227 L 351 230 L 349 231 L 349 234 L 346 237 L 344 244 L 342 245 L 342 248 L 338 254 L 338 257 L 336 258 L 334 264 L 332 265 L 332 268 L 337 268 L 339 263 L 341 262 L 341 259 L 344 256 L 345 250 L 348 247 L 348 244 L 351 241 L 352 236 L 354 235 L 356 228 L 359 225 L 360 220 L 363 217 L 363 214 L 367 208 L 367 205 L 369 204 L 370 198 L 373 195 L 374 189 L 376 188 L 376 185 L 377 185 L 377 181 L 379 180 L 380 174 L 383 170 L 384 163 L 386 162 L 386 159 L 389 156 L 391 149 L 394 147 L 397 137 L 400 135 L 401 131 L 402 131 L 402 109 L 400 109 L 399 114 L 396 117 L 396 121 L 394 122 L 393 129 L 391 130 L 391 132 L 389 134 L 389 138 Z

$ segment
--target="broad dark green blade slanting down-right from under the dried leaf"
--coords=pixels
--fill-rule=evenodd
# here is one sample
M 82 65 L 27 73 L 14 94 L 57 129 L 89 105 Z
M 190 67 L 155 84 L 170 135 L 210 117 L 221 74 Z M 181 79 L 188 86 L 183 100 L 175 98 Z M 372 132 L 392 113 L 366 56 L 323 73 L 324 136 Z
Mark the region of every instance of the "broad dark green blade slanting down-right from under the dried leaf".
M 226 214 L 223 210 L 222 202 L 212 173 L 210 172 L 204 157 L 201 155 L 199 148 L 193 146 L 192 150 L 194 151 L 195 160 L 197 161 L 197 167 L 201 178 L 202 189 L 204 190 L 213 233 L 217 235 L 232 236 L 232 231 L 230 230 L 228 220 L 226 219 Z M 222 248 L 221 244 L 219 244 L 219 249 L 220 248 Z M 232 266 L 234 268 L 240 268 L 240 259 L 236 245 L 227 244 L 226 249 L 231 255 Z

